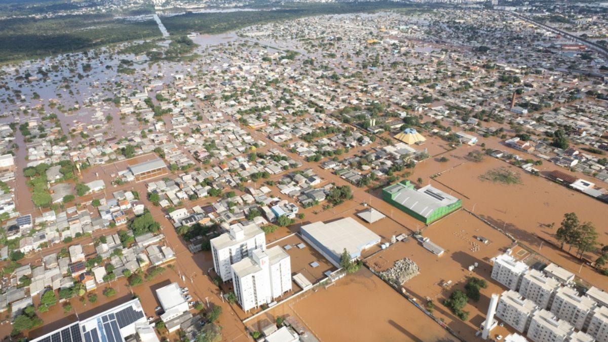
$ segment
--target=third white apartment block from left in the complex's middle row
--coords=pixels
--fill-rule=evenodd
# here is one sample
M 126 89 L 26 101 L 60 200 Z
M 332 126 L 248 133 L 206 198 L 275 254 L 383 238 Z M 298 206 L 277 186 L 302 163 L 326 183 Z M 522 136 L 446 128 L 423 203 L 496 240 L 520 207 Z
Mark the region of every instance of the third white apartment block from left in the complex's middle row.
M 555 291 L 551 313 L 559 319 L 572 324 L 576 329 L 587 327 L 588 319 L 597 303 L 587 297 L 579 296 L 578 292 L 570 287 L 561 287 Z

